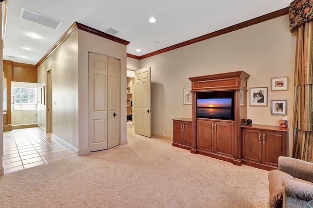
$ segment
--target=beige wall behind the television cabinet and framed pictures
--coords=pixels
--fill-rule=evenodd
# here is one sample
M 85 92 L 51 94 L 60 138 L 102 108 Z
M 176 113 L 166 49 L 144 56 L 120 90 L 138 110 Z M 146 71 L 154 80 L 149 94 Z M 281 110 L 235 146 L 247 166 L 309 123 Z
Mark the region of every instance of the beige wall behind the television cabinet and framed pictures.
M 172 137 L 172 119 L 192 116 L 191 105 L 182 104 L 183 88 L 191 87 L 188 77 L 245 71 L 251 75 L 248 87 L 268 87 L 268 106 L 249 106 L 247 100 L 247 117 L 254 124 L 277 126 L 284 116 L 270 114 L 270 100 L 286 99 L 292 148 L 296 37 L 288 24 L 286 15 L 139 60 L 138 68 L 151 66 L 152 132 L 163 135 L 165 129 Z M 270 78 L 281 76 L 289 77 L 289 90 L 271 92 Z

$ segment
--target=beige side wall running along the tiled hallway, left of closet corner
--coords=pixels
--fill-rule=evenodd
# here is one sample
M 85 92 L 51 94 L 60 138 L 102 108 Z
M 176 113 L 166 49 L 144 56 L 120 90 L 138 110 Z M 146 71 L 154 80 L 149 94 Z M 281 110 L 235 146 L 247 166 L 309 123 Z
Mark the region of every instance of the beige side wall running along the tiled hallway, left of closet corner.
M 52 77 L 52 133 L 80 149 L 77 31 L 38 67 L 38 92 L 42 86 L 46 87 L 46 70 L 49 67 L 51 67 Z M 38 124 L 43 128 L 46 128 L 45 108 L 46 105 L 38 105 Z

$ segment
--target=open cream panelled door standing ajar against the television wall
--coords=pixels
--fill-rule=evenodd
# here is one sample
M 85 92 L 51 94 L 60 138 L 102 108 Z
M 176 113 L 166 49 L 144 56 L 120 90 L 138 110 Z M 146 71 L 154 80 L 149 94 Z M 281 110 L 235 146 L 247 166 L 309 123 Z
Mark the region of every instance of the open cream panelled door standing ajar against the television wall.
M 134 132 L 151 137 L 150 67 L 135 71 Z

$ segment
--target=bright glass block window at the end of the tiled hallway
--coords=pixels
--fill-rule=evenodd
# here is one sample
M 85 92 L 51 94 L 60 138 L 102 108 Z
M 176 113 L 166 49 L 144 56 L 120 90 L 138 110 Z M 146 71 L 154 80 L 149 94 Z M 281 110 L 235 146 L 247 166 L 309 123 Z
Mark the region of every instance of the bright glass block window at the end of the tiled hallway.
M 35 88 L 13 87 L 13 110 L 35 110 L 37 92 Z

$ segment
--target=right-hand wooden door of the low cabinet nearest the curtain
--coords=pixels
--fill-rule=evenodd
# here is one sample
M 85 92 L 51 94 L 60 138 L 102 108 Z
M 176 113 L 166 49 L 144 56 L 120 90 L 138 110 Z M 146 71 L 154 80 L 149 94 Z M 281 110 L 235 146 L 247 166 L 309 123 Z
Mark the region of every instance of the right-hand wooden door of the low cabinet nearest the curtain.
M 286 155 L 286 133 L 263 131 L 263 163 L 277 166 L 278 157 Z

